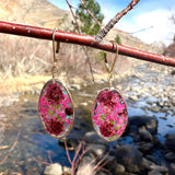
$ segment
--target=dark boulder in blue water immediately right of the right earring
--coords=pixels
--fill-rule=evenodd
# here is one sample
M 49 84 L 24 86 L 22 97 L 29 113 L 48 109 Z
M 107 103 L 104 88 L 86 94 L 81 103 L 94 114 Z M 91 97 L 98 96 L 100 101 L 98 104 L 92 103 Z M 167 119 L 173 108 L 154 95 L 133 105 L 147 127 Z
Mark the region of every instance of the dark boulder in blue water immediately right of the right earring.
M 158 119 L 149 116 L 133 116 L 129 118 L 129 125 L 136 125 L 137 127 L 145 126 L 150 133 L 155 135 L 158 130 Z

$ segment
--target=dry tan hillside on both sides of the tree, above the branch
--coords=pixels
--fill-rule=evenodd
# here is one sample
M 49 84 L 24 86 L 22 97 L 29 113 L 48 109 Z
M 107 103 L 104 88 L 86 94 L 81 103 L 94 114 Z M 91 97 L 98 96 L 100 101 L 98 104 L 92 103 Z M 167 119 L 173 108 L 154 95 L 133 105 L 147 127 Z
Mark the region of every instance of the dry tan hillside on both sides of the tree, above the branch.
M 70 31 L 72 16 L 68 11 L 55 7 L 47 0 L 0 0 L 0 20 L 49 28 L 57 26 L 62 31 Z M 126 46 L 162 54 L 162 49 L 147 45 L 117 28 L 109 32 L 107 39 L 114 39 L 117 35 Z

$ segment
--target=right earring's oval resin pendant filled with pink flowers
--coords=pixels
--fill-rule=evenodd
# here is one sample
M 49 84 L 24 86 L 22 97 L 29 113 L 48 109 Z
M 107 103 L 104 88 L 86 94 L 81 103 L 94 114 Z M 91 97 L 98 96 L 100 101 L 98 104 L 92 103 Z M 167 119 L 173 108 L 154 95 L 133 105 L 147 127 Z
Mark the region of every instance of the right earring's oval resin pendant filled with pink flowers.
M 128 109 L 118 90 L 104 89 L 97 94 L 92 122 L 97 135 L 106 141 L 117 140 L 122 135 L 128 122 Z

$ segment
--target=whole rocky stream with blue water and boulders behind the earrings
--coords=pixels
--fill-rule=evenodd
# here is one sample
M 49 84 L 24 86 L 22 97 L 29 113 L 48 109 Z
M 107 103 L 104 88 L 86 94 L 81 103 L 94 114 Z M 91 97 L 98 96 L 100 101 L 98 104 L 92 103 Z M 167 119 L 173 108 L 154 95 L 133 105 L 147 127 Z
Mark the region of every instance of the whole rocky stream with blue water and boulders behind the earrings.
M 91 124 L 93 100 L 98 90 L 107 86 L 106 77 L 96 75 L 95 84 L 90 79 L 73 77 L 66 82 L 75 107 L 73 128 L 67 137 L 71 159 L 74 156 L 73 150 L 77 150 L 83 138 L 85 150 L 89 148 L 79 165 L 79 174 L 83 174 L 83 170 L 88 174 L 98 175 L 175 174 L 175 77 L 172 72 L 173 69 L 166 67 L 144 63 L 137 66 L 128 74 L 116 75 L 117 88 L 121 90 L 127 102 L 129 121 L 122 137 L 112 143 L 98 138 Z M 16 101 L 9 105 L 2 103 L 0 124 L 3 124 L 1 133 L 4 137 L 1 144 L 11 145 L 15 139 L 14 133 L 22 129 L 16 150 L 11 153 L 3 167 L 0 167 L 2 174 L 18 172 L 26 175 L 50 175 L 54 170 L 57 170 L 57 175 L 62 170 L 65 174 L 70 174 L 63 140 L 57 141 L 47 136 L 37 116 L 39 90 L 49 78 L 40 77 L 35 83 L 26 79 L 23 83 L 33 85 L 33 89 L 30 92 L 26 89 L 16 89 L 16 92 L 22 92 L 15 93 Z M 62 75 L 62 81 L 66 80 Z M 10 83 L 4 86 L 5 93 L 8 86 Z M 52 163 L 50 159 L 47 160 L 48 150 Z M 0 152 L 1 159 L 7 151 L 8 149 Z M 90 173 L 92 170 L 98 171 Z

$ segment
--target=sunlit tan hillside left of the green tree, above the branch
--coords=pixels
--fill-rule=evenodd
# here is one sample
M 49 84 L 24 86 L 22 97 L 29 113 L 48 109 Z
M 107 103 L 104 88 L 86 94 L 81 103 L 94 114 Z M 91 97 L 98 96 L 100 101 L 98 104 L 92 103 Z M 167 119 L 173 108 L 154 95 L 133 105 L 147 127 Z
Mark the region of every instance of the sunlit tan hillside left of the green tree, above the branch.
M 54 27 L 66 13 L 47 0 L 0 0 L 0 20 L 3 21 Z

